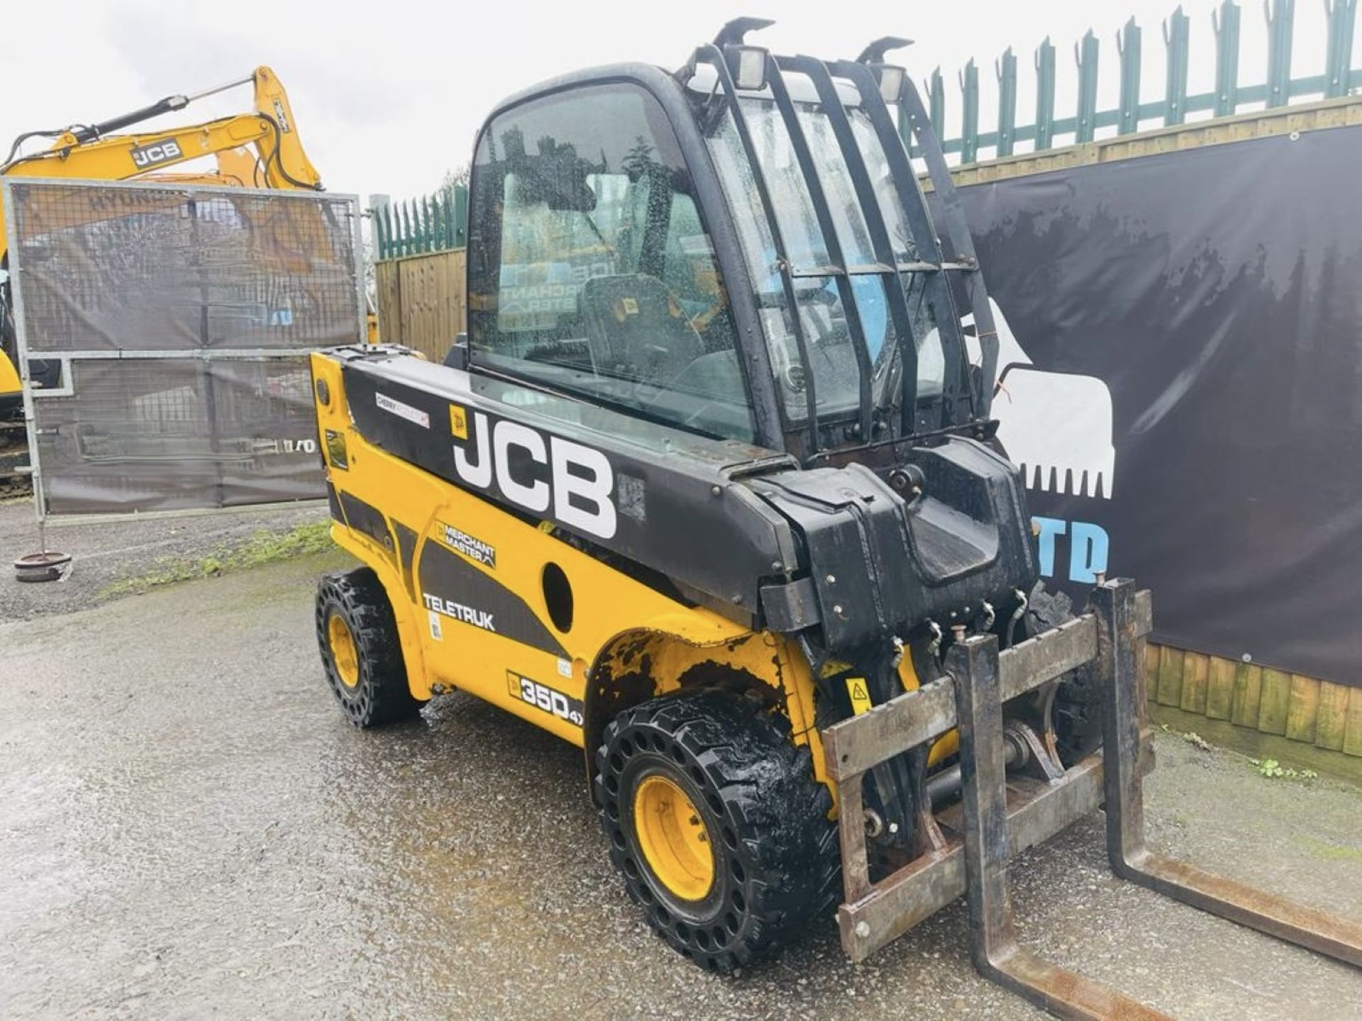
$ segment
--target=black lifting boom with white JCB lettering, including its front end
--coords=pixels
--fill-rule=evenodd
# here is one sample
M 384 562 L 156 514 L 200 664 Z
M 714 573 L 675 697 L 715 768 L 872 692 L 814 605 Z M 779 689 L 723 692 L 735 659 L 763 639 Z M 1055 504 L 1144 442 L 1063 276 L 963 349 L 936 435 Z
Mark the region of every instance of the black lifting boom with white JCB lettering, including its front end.
M 914 466 L 921 493 L 904 500 L 862 464 L 799 468 L 394 349 L 336 354 L 369 442 L 748 626 L 820 628 L 825 649 L 851 652 L 970 621 L 1036 579 L 1020 474 L 974 440 L 911 449 L 896 467 Z

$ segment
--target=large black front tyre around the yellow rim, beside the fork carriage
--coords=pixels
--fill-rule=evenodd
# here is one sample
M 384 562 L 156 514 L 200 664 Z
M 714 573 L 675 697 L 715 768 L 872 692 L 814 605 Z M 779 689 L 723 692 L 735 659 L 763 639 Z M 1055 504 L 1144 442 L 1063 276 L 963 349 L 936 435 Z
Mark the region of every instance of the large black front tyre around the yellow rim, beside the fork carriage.
M 597 750 L 610 859 L 654 931 L 710 971 L 789 943 L 829 912 L 842 889 L 831 796 L 813 779 L 808 747 L 789 732 L 785 717 L 710 689 L 625 709 Z M 714 852 L 703 897 L 678 898 L 640 847 L 633 807 L 648 777 L 681 788 L 703 820 Z

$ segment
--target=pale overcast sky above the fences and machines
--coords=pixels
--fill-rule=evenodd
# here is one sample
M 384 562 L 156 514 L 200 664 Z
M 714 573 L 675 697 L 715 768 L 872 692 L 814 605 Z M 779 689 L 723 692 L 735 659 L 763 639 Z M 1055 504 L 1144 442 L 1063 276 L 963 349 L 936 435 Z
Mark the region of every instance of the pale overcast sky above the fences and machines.
M 8 148 L 22 131 L 105 120 L 268 64 L 289 90 L 308 154 L 330 191 L 406 197 L 433 189 L 447 169 L 469 162 L 474 132 L 507 94 L 594 64 L 640 60 L 676 68 L 691 48 L 740 14 L 776 19 L 753 39 L 780 53 L 854 57 L 872 38 L 906 35 L 917 45 L 900 59 L 918 80 L 940 64 L 953 83 L 974 56 L 981 65 L 981 127 L 987 129 L 997 101 L 993 60 L 1008 45 L 1019 57 L 1017 123 L 1032 120 L 1031 53 L 1047 34 L 1058 49 L 1058 114 L 1072 113 L 1073 44 L 1090 27 L 1102 42 L 1102 106 L 1114 106 L 1114 37 L 1130 15 L 1144 29 L 1143 97 L 1162 97 L 1159 26 L 1174 5 L 1173 0 L 10 3 L 0 31 L 0 140 Z M 1212 79 L 1216 5 L 1184 3 L 1192 18 L 1193 93 L 1207 91 Z M 1305 0 L 1297 7 L 1293 74 L 1318 74 L 1324 5 Z M 1264 78 L 1267 38 L 1257 0 L 1244 4 L 1242 23 L 1241 83 L 1257 83 Z M 1354 59 L 1354 67 L 1359 64 Z M 959 101 L 953 88 L 948 94 L 948 117 L 957 125 Z M 241 88 L 155 124 L 207 120 L 249 105 L 251 91 Z

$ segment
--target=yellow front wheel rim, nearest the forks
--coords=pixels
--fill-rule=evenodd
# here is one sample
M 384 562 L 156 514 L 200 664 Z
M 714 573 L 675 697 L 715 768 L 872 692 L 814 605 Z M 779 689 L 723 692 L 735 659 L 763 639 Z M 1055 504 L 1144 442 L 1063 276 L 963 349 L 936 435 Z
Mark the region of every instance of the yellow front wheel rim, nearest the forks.
M 654 773 L 633 792 L 633 829 L 652 874 L 681 900 L 714 886 L 714 848 L 704 818 L 674 781 Z

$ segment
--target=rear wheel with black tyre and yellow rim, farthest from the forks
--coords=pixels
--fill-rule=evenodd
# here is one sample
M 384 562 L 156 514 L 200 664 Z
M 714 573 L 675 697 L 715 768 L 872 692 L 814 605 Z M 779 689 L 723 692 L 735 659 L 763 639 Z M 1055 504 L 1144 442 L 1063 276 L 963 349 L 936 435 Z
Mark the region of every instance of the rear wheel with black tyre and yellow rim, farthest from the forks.
M 323 574 L 316 623 L 327 685 L 350 723 L 377 727 L 421 711 L 421 701 L 407 686 L 392 606 L 373 570 Z M 349 634 L 349 647 L 342 629 Z

